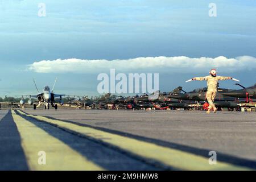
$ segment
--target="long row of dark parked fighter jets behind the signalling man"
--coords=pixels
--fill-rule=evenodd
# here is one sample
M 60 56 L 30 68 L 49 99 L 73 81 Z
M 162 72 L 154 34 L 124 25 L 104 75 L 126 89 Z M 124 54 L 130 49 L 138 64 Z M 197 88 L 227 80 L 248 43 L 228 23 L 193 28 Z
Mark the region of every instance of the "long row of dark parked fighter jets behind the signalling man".
M 229 110 L 240 110 L 238 104 L 252 103 L 256 101 L 256 84 L 245 88 L 240 84 L 241 89 L 232 90 L 218 88 L 218 93 L 214 103 L 220 109 L 223 107 Z M 82 97 L 78 100 L 71 101 L 69 104 L 92 107 L 92 108 L 107 108 L 109 104 L 118 106 L 123 109 L 141 109 L 141 108 L 155 108 L 155 109 L 175 109 L 184 108 L 189 109 L 195 104 L 205 104 L 207 88 L 195 89 L 192 92 L 185 92 L 181 86 L 172 90 L 169 93 L 156 91 L 150 95 L 142 94 L 141 96 L 123 97 L 112 96 L 110 93 L 102 97 Z

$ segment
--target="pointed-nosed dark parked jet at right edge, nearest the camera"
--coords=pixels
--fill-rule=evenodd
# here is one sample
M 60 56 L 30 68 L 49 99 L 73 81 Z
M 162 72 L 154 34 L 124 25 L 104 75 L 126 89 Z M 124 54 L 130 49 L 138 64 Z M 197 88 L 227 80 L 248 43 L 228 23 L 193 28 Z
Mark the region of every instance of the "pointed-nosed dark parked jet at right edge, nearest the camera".
M 256 98 L 256 84 L 254 86 L 250 86 L 245 88 L 240 84 L 236 84 L 242 87 L 240 90 L 233 90 L 232 92 L 221 93 L 224 96 L 230 97 L 238 97 L 238 98 L 245 98 L 246 102 L 249 102 L 250 99 Z

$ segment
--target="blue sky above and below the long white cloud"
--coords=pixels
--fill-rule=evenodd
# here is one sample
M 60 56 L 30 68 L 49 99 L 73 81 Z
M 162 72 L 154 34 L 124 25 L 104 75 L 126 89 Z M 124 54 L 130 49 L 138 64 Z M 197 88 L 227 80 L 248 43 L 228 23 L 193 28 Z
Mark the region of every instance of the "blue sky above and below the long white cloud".
M 38 16 L 40 2 L 46 4 L 46 17 Z M 208 5 L 211 2 L 217 5 L 217 17 L 208 15 Z M 33 77 L 40 87 L 46 84 L 51 86 L 55 77 L 58 77 L 56 92 L 89 96 L 97 94 L 97 75 L 100 73 L 97 69 L 85 68 L 77 73 L 76 68 L 65 68 L 69 72 L 56 73 L 55 66 L 59 67 L 56 64 L 47 73 L 28 69 L 28 65 L 42 60 L 111 61 L 159 56 L 224 56 L 228 59 L 239 56 L 256 57 L 255 24 L 254 0 L 2 0 L 0 96 L 34 93 Z M 253 80 L 255 64 L 252 61 L 252 69 L 245 64 L 239 64 L 231 71 L 222 69 L 224 67 L 221 64 L 218 68 L 220 75 L 238 77 L 243 85 L 249 86 L 256 82 Z M 176 86 L 183 86 L 187 90 L 205 86 L 204 82 L 185 84 L 184 80 L 207 75 L 208 67 L 191 71 L 189 68 L 188 65 L 179 72 L 174 72 L 175 68 L 146 68 L 143 72 L 158 72 L 162 91 Z M 122 68 L 118 68 L 118 71 L 125 72 Z M 141 71 L 134 68 L 129 70 Z M 105 72 L 109 73 L 109 69 Z M 233 84 L 223 82 L 221 86 L 236 88 Z

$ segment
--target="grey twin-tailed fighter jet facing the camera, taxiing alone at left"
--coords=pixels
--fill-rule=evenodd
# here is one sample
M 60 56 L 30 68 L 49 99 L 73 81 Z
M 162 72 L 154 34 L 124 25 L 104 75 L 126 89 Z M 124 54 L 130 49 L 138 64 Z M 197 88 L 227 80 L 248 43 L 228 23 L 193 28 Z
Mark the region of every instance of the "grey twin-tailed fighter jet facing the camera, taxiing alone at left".
M 60 100 L 58 102 L 61 106 L 64 104 L 64 102 L 61 100 L 61 98 L 63 96 L 65 96 L 65 94 L 55 94 L 55 93 L 53 93 L 57 78 L 55 79 L 52 90 L 49 88 L 49 86 L 44 86 L 43 92 L 41 92 L 41 93 L 39 92 L 38 86 L 36 86 L 36 82 L 35 82 L 34 79 L 33 79 L 33 81 L 34 81 L 35 88 L 38 91 L 38 93 L 34 94 L 34 95 L 25 95 L 25 96 L 30 97 L 30 100 L 28 100 L 28 102 L 27 102 L 28 105 L 33 105 L 33 102 L 31 100 L 31 98 L 37 98 L 38 105 L 34 104 L 34 109 L 36 109 L 40 105 L 44 104 L 44 109 L 49 109 L 49 105 L 51 105 L 52 107 L 54 107 L 57 110 L 57 102 L 55 101 L 56 97 L 60 98 Z M 22 100 L 20 100 L 20 105 L 22 105 L 22 106 L 24 106 L 24 104 L 25 104 L 25 101 L 23 100 L 23 97 L 24 96 L 22 96 Z

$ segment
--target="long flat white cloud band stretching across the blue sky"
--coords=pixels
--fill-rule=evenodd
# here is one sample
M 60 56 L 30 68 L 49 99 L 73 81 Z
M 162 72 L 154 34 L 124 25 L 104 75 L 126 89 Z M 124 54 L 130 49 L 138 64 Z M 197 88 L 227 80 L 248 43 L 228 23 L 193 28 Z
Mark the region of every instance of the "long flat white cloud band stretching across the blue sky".
M 252 70 L 256 68 L 256 58 L 241 56 L 227 58 L 219 56 L 215 58 L 200 57 L 190 58 L 186 56 L 176 57 L 137 57 L 126 60 L 81 60 L 81 59 L 57 59 L 35 61 L 28 65 L 28 70 L 38 73 L 100 73 L 109 72 L 110 68 L 119 72 L 208 72 L 211 68 L 217 68 L 222 72 L 234 72 Z

